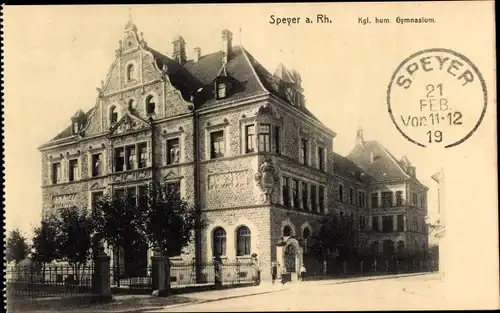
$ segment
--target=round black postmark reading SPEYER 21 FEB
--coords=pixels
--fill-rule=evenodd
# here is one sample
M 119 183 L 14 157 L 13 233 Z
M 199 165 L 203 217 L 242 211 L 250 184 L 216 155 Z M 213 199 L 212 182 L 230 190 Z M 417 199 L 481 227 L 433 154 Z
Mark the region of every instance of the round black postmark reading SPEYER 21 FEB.
M 404 60 L 387 89 L 389 115 L 410 142 L 450 148 L 467 140 L 486 113 L 486 83 L 477 67 L 450 49 L 426 49 Z

